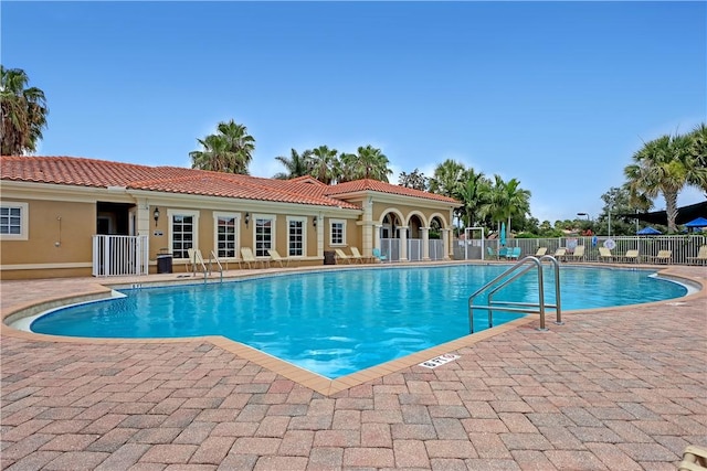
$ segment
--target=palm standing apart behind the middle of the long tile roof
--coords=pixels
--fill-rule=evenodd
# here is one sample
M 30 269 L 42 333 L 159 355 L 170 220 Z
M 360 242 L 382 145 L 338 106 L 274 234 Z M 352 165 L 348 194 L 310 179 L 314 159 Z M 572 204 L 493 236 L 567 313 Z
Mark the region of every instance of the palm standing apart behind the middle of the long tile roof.
M 233 119 L 219 122 L 217 131 L 204 139 L 197 139 L 202 150 L 189 152 L 192 169 L 247 175 L 255 139 L 247 133 L 245 126 L 235 124 Z

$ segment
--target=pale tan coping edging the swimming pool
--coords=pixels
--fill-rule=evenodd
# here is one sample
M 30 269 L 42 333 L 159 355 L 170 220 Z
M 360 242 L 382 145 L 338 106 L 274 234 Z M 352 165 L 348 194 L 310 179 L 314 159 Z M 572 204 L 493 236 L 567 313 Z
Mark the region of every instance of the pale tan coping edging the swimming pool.
M 408 268 L 412 266 L 445 266 L 445 265 L 489 265 L 488 261 L 473 261 L 473 260 L 456 260 L 456 261 L 445 261 L 445 263 L 421 263 L 421 264 L 384 264 L 384 266 L 380 265 L 346 265 L 346 266 L 334 266 L 326 267 L 327 269 L 338 269 L 338 270 L 348 270 L 348 269 L 359 269 L 359 268 Z M 661 277 L 673 279 L 686 285 L 689 285 L 696 289 L 695 292 L 688 293 L 682 298 L 674 298 L 664 301 L 653 301 L 641 304 L 630 304 L 624 307 L 616 308 L 595 308 L 595 309 L 587 309 L 587 310 L 571 310 L 563 311 L 563 313 L 591 313 L 597 311 L 618 311 L 634 309 L 636 306 L 653 306 L 653 304 L 666 304 L 680 302 L 682 300 L 688 301 L 696 298 L 705 298 L 707 299 L 707 291 L 705 290 L 705 278 L 698 278 L 693 276 L 687 276 L 685 274 L 675 272 L 675 266 L 654 266 L 654 265 L 634 265 L 631 267 L 626 267 L 625 265 L 610 265 L 602 264 L 600 266 L 594 264 L 567 264 L 567 266 L 593 266 L 593 267 L 604 267 L 604 268 L 623 268 L 623 269 L 646 269 L 646 270 L 655 270 Z M 695 267 L 697 268 L 697 267 Z M 254 278 L 264 278 L 279 275 L 292 275 L 296 272 L 310 272 L 310 271 L 321 271 L 323 267 L 294 267 L 294 268 L 268 268 L 261 269 L 257 272 L 254 270 L 238 270 L 238 272 L 230 274 L 229 276 L 224 276 L 224 280 L 229 279 L 230 281 L 234 279 L 254 279 Z M 11 306 L 9 308 L 3 308 L 1 312 L 1 323 L 0 323 L 0 333 L 2 335 L 11 335 L 15 338 L 22 338 L 30 341 L 42 341 L 42 342 L 55 342 L 55 343 L 88 343 L 88 344 L 129 344 L 129 343 L 203 343 L 208 342 L 219 349 L 233 353 L 244 360 L 251 361 L 264 368 L 270 370 L 273 373 L 279 374 L 293 382 L 296 382 L 305 387 L 308 387 L 317 393 L 320 393 L 325 396 L 331 396 L 341 390 L 358 386 L 360 384 L 367 383 L 372 379 L 377 379 L 383 377 L 388 374 L 399 372 L 403 368 L 411 367 L 423 363 L 428 360 L 434 358 L 436 356 L 453 353 L 460 349 L 468 347 L 474 345 L 477 342 L 484 341 L 492 336 L 496 336 L 503 334 L 507 331 L 515 330 L 523 327 L 528 327 L 530 323 L 535 323 L 539 320 L 539 314 L 527 314 L 525 318 L 517 319 L 507 323 L 504 323 L 498 327 L 494 327 L 492 329 L 486 329 L 481 332 L 476 332 L 473 334 L 468 334 L 462 336 L 460 339 L 435 345 L 430 349 L 425 349 L 423 351 L 395 358 L 366 370 L 361 370 L 359 372 L 341 376 L 339 378 L 330 379 L 325 376 L 318 375 L 316 373 L 304 370 L 299 366 L 296 366 L 292 363 L 288 363 L 282 358 L 272 356 L 265 352 L 245 345 L 243 343 L 232 341 L 221 335 L 208 335 L 208 336 L 193 336 L 193 338 L 178 338 L 178 339 L 94 339 L 94 338 L 68 338 L 68 336 L 60 336 L 60 335 L 49 335 L 49 334 L 39 334 L 33 332 L 27 332 L 22 330 L 14 329 L 8 325 L 9 322 L 13 322 L 17 319 L 36 315 L 41 312 L 60 308 L 70 303 L 76 302 L 91 302 L 97 301 L 102 299 L 108 299 L 112 297 L 112 292 L 114 289 L 119 288 L 129 288 L 136 287 L 136 285 L 149 285 L 150 287 L 161 287 L 161 286 L 176 286 L 176 285 L 194 285 L 197 281 L 196 277 L 189 277 L 188 279 L 183 276 L 178 276 L 181 274 L 171 275 L 171 277 L 162 276 L 157 278 L 148 279 L 145 276 L 143 277 L 131 277 L 129 279 L 83 279 L 85 280 L 85 287 L 82 292 L 75 292 L 71 295 L 63 296 L 53 296 L 44 299 L 38 299 L 31 302 L 27 302 L 24 304 Z M 705 275 L 707 275 L 707 270 L 705 270 Z M 32 280 L 23 280 L 25 282 L 31 282 Z M 81 282 L 81 279 L 76 280 Z M 220 279 L 207 279 L 207 282 L 219 282 Z M 202 281 L 199 281 L 202 282 Z M 549 319 L 547 321 L 550 321 Z M 548 322 L 551 324 L 551 322 Z M 550 330 L 551 332 L 551 330 Z M 538 334 L 545 334 L 546 332 L 538 331 Z

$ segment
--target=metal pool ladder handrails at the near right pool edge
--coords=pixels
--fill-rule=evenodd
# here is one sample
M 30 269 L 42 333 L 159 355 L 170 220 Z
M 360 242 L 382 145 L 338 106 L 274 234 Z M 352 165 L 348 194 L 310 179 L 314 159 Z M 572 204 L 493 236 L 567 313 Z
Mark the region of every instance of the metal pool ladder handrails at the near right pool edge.
M 542 263 L 549 261 L 555 268 L 555 304 L 548 304 L 545 302 L 545 280 L 542 277 Z M 494 295 L 502 288 L 508 286 L 510 282 L 520 278 L 532 268 L 538 271 L 538 302 L 514 302 L 514 301 L 494 301 Z M 474 306 L 474 299 L 494 287 L 486 297 L 486 306 Z M 560 301 L 560 264 L 551 255 L 544 255 L 540 258 L 528 256 L 523 258 L 513 267 L 508 268 L 503 274 L 498 275 L 493 280 L 477 289 L 472 296 L 468 297 L 468 325 L 469 333 L 474 333 L 474 309 L 484 309 L 488 311 L 488 328 L 494 327 L 494 310 L 506 312 L 524 312 L 528 314 L 540 314 L 539 331 L 547 331 L 545 327 L 545 311 L 546 309 L 555 309 L 557 312 L 556 324 L 562 325 L 562 308 Z

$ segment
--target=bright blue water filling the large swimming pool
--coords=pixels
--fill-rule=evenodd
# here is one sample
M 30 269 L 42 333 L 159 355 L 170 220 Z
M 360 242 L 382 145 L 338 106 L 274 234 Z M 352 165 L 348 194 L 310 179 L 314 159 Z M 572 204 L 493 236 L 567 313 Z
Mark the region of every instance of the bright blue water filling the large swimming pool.
M 325 272 L 123 290 L 107 301 L 36 319 L 38 333 L 92 338 L 223 335 L 336 378 L 467 335 L 468 296 L 507 267 L 457 265 Z M 645 270 L 562 267 L 562 309 L 591 309 L 677 298 L 686 288 Z M 547 302 L 555 301 L 548 269 Z M 537 302 L 537 276 L 494 299 Z M 494 325 L 523 314 L 494 313 Z M 548 312 L 548 322 L 555 312 Z M 474 313 L 474 331 L 488 328 Z

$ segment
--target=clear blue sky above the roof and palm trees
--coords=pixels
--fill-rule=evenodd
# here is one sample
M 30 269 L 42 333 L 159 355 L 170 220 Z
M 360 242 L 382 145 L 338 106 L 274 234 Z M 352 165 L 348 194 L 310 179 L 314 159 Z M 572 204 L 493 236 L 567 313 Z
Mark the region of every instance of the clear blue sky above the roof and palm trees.
M 644 141 L 707 121 L 706 2 L 14 2 L 1 57 L 49 100 L 38 154 L 190 167 L 235 119 L 251 174 L 327 144 L 516 178 L 597 217 Z M 678 203 L 703 201 L 698 191 Z M 656 208 L 664 208 L 663 200 Z

